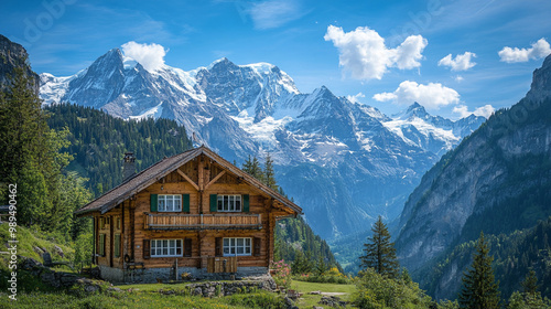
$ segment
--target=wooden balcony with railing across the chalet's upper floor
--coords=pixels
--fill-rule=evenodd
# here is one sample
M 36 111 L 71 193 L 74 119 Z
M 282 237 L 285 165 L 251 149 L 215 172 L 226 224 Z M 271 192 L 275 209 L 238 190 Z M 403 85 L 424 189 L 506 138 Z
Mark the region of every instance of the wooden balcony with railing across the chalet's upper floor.
M 145 213 L 145 230 L 260 230 L 260 214 L 152 214 Z

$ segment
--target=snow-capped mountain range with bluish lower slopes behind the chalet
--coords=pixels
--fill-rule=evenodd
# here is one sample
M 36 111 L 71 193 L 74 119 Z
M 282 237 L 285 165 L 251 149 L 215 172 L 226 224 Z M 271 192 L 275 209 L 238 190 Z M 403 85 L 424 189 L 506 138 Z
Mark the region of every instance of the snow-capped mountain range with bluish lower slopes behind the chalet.
M 302 94 L 268 63 L 222 58 L 190 72 L 168 65 L 149 72 L 117 49 L 73 76 L 42 74 L 41 96 L 125 119 L 175 119 L 238 162 L 270 151 L 279 183 L 327 238 L 367 230 L 366 220 L 380 213 L 398 216 L 442 149 L 475 129 L 418 105 L 392 119 L 325 86 Z

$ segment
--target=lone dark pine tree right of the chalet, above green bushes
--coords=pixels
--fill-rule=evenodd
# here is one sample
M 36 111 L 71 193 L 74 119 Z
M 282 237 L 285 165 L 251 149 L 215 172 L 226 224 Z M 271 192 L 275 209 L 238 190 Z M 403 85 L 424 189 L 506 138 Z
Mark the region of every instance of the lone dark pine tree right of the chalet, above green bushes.
M 379 215 L 371 226 L 372 235 L 367 238 L 365 255 L 360 257 L 363 269 L 374 268 L 378 274 L 396 278 L 399 264 L 396 257 L 395 243 L 390 242 L 390 233 Z

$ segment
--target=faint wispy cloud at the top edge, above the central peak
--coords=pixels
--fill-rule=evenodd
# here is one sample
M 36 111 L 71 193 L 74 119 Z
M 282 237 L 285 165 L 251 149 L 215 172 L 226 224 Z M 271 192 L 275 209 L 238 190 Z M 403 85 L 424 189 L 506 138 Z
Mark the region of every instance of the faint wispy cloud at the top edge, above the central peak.
M 256 29 L 273 29 L 302 17 L 298 1 L 269 0 L 252 3 L 248 10 Z

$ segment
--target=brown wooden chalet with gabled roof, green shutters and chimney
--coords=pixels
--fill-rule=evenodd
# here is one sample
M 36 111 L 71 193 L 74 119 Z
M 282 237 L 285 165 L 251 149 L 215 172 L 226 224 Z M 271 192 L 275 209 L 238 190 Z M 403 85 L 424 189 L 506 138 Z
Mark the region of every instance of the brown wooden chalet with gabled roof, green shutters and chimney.
M 94 219 L 94 263 L 111 281 L 267 274 L 276 222 L 301 207 L 206 147 L 165 158 L 76 214 Z M 130 168 L 129 168 L 130 167 Z

